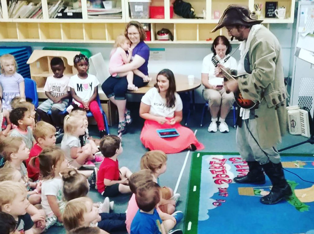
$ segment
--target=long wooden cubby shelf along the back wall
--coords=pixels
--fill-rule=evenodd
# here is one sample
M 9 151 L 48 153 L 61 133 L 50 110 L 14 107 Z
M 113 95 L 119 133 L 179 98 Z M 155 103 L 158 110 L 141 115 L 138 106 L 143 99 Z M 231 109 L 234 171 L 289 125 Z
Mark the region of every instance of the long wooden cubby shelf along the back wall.
M 19 0 L 23 1 L 23 0 Z M 231 0 L 188 0 L 201 19 L 184 19 L 173 13 L 170 18 L 170 7 L 174 0 L 151 0 L 151 6 L 164 8 L 164 18 L 132 19 L 128 0 L 117 0 L 117 7 L 122 9 L 121 19 L 89 19 L 87 0 L 81 2 L 81 18 L 51 18 L 51 5 L 57 0 L 28 0 L 34 5 L 41 1 L 42 18 L 9 18 L 7 0 L 0 0 L 3 18 L 0 18 L 0 42 L 73 42 L 73 43 L 114 43 L 116 36 L 123 34 L 125 26 L 131 20 L 150 24 L 152 44 L 208 44 L 218 35 L 228 35 L 225 29 L 210 33 L 218 23 L 219 17 Z M 64 0 L 63 4 L 71 5 L 73 0 Z M 294 21 L 295 2 L 280 0 L 278 6 L 286 8 L 285 19 L 265 18 L 265 0 L 237 0 L 237 4 L 247 5 L 253 11 L 254 3 L 263 4 L 261 19 L 269 24 L 289 24 Z M 90 7 L 90 6 L 89 6 Z M 156 33 L 167 28 L 174 36 L 173 41 L 159 41 Z M 234 41 L 232 43 L 238 43 Z

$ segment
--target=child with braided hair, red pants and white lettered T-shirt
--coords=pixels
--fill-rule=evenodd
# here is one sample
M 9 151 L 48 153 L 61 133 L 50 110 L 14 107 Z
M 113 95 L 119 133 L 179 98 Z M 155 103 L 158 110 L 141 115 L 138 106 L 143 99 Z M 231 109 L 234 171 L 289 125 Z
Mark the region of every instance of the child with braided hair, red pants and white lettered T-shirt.
M 73 62 L 78 74 L 71 76 L 69 81 L 73 103 L 67 108 L 67 111 L 70 113 L 74 106 L 90 110 L 97 122 L 100 137 L 103 137 L 106 135 L 105 124 L 96 101 L 99 81 L 95 75 L 87 73 L 89 62 L 84 54 L 75 55 Z

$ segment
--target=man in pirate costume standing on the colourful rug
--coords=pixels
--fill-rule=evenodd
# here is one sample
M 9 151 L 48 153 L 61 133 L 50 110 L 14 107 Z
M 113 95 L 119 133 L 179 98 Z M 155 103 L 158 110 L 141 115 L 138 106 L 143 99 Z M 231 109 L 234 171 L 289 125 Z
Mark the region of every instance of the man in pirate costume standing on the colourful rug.
M 237 75 L 247 75 L 236 81 L 225 81 L 225 89 L 239 90 L 243 98 L 257 103 L 252 109 L 240 109 L 236 142 L 241 157 L 249 166 L 249 173 L 234 181 L 264 184 L 264 170 L 273 187 L 260 201 L 275 204 L 292 194 L 275 148 L 286 131 L 287 93 L 279 41 L 261 23 L 262 20 L 251 17 L 247 7 L 229 5 L 212 32 L 226 27 L 231 40 L 241 41 Z M 223 77 L 219 67 L 215 73 Z

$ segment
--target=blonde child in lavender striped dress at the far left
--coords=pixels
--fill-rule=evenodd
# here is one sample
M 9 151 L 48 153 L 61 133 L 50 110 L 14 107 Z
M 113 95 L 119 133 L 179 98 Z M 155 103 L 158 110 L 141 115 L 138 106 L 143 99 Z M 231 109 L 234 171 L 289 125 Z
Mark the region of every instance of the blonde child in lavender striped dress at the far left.
M 23 76 L 16 72 L 17 63 L 12 54 L 3 54 L 0 57 L 0 97 L 3 100 L 3 109 L 10 111 L 12 98 L 19 96 L 25 99 L 25 82 Z

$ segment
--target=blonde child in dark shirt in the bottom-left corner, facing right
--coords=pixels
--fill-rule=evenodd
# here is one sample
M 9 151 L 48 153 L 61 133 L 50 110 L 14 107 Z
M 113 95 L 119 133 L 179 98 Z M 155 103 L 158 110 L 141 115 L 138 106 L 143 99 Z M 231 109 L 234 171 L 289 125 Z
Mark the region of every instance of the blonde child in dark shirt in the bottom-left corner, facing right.
M 0 211 L 13 216 L 18 233 L 39 234 L 44 231 L 34 224 L 38 220 L 36 218 L 32 220 L 30 214 L 27 213 L 30 203 L 23 185 L 19 182 L 3 181 L 0 182 L 0 188 Z M 41 217 L 38 216 L 38 219 Z

